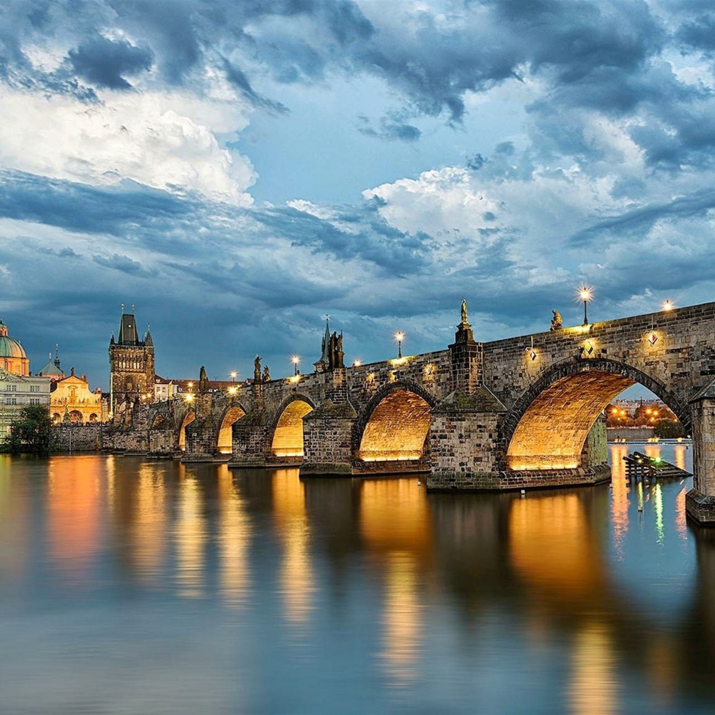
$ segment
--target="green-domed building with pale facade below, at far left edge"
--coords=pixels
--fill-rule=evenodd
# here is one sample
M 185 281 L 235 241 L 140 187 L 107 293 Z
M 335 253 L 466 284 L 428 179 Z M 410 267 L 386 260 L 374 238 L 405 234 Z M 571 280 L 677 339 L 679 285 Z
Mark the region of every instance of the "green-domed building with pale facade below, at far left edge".
M 0 438 L 25 405 L 49 405 L 49 378 L 30 375 L 24 347 L 0 319 Z

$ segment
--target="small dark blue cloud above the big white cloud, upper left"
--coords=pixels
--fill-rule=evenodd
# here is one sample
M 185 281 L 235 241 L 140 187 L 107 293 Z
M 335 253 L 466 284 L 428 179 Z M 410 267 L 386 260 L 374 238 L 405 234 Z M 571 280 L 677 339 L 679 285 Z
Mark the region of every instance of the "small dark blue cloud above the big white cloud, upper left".
M 99 87 L 130 89 L 125 74 L 151 68 L 154 54 L 148 47 L 136 47 L 126 40 L 95 37 L 69 51 L 69 62 L 79 77 Z

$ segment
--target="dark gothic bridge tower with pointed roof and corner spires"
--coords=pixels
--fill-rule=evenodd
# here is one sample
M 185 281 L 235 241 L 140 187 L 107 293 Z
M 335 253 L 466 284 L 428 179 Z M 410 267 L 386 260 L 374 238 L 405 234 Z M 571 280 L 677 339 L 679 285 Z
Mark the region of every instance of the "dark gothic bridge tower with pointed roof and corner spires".
M 125 313 L 122 305 L 122 321 L 119 337 L 109 340 L 109 390 L 112 414 L 122 403 L 134 404 L 137 400 L 153 400 L 154 397 L 154 343 L 147 332 L 139 340 L 137 321 L 132 312 Z M 149 398 L 146 397 L 149 395 Z

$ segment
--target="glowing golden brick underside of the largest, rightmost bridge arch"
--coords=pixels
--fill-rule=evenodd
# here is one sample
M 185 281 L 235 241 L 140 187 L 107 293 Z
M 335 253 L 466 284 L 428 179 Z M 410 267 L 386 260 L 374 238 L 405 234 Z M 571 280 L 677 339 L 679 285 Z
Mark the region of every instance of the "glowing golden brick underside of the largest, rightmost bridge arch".
M 510 469 L 573 469 L 589 430 L 611 400 L 633 385 L 620 373 L 593 370 L 556 380 L 538 395 L 514 430 Z

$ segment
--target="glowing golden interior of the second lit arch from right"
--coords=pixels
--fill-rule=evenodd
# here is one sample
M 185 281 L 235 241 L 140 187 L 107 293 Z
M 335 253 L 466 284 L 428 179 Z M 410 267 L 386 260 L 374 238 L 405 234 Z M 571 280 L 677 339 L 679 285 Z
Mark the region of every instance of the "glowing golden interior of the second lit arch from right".
M 365 425 L 358 457 L 365 462 L 419 459 L 430 429 L 430 409 L 409 390 L 389 393 Z

